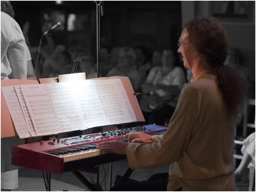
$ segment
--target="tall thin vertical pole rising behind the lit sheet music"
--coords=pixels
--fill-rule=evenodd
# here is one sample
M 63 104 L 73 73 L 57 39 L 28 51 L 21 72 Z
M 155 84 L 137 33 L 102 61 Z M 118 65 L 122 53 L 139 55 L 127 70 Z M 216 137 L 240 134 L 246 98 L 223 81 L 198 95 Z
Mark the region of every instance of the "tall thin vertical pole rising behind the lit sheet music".
M 102 1 L 95 1 L 96 4 L 96 42 L 97 42 L 97 52 L 96 52 L 96 62 L 97 62 L 97 77 L 100 77 L 100 63 L 99 63 L 99 55 L 100 55 L 100 10 L 101 15 L 103 15 L 102 10 Z

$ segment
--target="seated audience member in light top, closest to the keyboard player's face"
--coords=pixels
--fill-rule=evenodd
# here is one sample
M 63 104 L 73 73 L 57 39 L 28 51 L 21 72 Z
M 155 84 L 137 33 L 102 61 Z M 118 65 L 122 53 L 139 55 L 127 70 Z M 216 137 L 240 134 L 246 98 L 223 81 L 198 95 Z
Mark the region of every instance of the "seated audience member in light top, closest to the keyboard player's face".
M 148 124 L 164 125 L 176 108 L 186 77 L 184 70 L 174 65 L 174 60 L 173 51 L 165 49 L 162 65 L 153 67 L 141 85 L 140 106 L 146 118 L 148 116 Z

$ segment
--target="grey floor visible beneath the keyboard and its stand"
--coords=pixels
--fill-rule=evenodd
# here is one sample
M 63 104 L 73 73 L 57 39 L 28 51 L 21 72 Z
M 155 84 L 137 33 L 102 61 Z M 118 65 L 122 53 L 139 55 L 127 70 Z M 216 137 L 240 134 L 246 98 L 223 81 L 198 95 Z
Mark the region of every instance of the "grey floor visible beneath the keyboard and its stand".
M 112 164 L 112 186 L 115 183 L 116 175 L 124 175 L 128 168 L 127 160 L 116 161 Z M 138 169 L 132 172 L 130 179 L 147 180 L 154 173 L 168 172 L 168 166 L 157 168 Z M 81 172 L 90 182 L 96 183 L 97 174 Z M 109 164 L 99 166 L 99 183 L 101 189 L 98 191 L 109 191 Z M 248 191 L 248 180 L 237 182 L 237 190 Z M 19 170 L 19 188 L 13 191 L 45 191 L 43 174 L 37 170 L 20 168 Z M 77 179 L 71 172 L 62 174 L 51 174 L 51 191 L 90 191 L 82 182 Z

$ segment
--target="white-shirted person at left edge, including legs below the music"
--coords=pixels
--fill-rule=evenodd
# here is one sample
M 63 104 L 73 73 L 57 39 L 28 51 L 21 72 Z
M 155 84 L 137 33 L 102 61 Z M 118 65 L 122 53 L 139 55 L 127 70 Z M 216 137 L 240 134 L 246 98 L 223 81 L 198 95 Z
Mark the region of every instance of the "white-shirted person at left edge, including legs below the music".
M 9 1 L 1 1 L 1 79 L 36 79 L 31 56 Z M 18 188 L 18 167 L 12 165 L 17 137 L 1 138 L 1 191 Z

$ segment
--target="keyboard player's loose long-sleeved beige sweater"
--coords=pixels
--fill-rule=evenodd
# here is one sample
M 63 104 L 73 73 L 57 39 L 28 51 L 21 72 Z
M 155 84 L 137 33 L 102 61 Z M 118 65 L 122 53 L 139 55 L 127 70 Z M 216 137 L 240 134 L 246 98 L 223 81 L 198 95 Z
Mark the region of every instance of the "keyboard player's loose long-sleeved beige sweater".
M 216 78 L 204 74 L 180 94 L 163 136 L 153 143 L 129 143 L 131 168 L 170 164 L 167 190 L 233 191 L 235 118 L 228 118 Z

